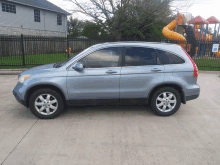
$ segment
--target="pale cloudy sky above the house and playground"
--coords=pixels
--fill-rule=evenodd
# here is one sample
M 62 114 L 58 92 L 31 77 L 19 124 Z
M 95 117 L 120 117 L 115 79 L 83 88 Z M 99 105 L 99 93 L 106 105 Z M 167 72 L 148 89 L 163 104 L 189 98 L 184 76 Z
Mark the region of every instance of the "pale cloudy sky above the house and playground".
M 62 9 L 68 12 L 70 12 L 70 10 L 74 8 L 73 3 L 68 2 L 68 0 L 48 0 L 48 1 L 61 7 Z M 82 1 L 86 1 L 86 0 L 78 0 L 78 2 L 82 2 Z M 177 2 L 174 2 L 174 5 L 181 4 L 182 1 L 186 1 L 192 4 L 191 7 L 189 8 L 181 8 L 180 12 L 191 13 L 193 17 L 200 15 L 204 19 L 208 19 L 211 16 L 215 16 L 217 19 L 220 20 L 220 14 L 219 14 L 220 0 L 176 0 L 176 1 Z M 75 17 L 81 20 L 90 20 L 88 17 L 82 14 L 73 14 L 73 18 Z

